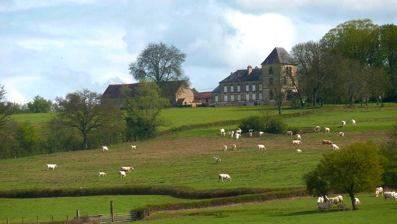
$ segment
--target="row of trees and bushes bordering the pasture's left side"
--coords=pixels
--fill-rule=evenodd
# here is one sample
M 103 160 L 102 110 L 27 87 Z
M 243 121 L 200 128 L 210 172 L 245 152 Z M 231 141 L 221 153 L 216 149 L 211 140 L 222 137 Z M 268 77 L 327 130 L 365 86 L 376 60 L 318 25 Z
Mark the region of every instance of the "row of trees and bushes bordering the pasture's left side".
M 15 112 L 0 89 L 0 158 L 95 148 L 126 140 L 143 140 L 167 125 L 159 116 L 169 106 L 154 82 L 141 82 L 123 113 L 108 98 L 88 89 L 57 97 L 51 119 L 42 126 L 16 122 Z

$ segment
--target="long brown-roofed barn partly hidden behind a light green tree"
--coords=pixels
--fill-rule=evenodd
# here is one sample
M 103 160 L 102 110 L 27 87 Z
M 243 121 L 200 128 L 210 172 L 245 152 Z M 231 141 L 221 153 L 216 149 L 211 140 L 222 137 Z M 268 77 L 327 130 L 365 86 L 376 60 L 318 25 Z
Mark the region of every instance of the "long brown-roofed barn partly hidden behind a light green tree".
M 110 84 L 102 95 L 109 97 L 117 107 L 122 108 L 124 107 L 125 99 L 123 92 L 130 92 L 129 97 L 134 97 L 136 87 L 139 87 L 139 83 Z M 186 84 L 186 81 L 167 81 L 162 84 L 161 89 L 162 97 L 168 98 L 172 106 L 189 105 L 193 103 L 194 94 Z

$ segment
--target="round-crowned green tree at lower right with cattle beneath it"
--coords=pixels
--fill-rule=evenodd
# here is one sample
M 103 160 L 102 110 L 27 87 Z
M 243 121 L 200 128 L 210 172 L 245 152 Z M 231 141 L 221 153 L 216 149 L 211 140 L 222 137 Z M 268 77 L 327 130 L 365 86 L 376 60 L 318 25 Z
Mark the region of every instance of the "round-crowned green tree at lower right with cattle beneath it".
M 371 141 L 355 143 L 340 151 L 325 153 L 315 171 L 308 174 L 320 181 L 314 182 L 314 187 L 307 185 L 307 188 L 317 189 L 319 192 L 330 189 L 334 192 L 347 193 L 353 210 L 357 210 L 354 194 L 375 189 L 382 183 L 382 174 L 378 147 Z M 324 177 L 327 181 L 322 180 Z

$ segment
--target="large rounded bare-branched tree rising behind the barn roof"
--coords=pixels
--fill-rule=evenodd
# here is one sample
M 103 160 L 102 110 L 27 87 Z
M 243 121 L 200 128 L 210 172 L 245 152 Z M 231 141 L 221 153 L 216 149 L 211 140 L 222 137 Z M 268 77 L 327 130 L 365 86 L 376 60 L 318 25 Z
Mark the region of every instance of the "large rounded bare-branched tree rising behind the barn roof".
M 189 81 L 182 69 L 185 59 L 186 54 L 174 45 L 150 43 L 129 65 L 130 75 L 136 80 L 154 81 L 160 88 L 166 81 Z

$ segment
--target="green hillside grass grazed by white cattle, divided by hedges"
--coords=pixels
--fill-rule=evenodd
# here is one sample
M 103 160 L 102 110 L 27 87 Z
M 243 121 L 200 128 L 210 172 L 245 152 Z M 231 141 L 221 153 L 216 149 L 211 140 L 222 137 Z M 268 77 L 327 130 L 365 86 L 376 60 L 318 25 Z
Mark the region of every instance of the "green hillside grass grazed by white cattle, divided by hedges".
M 185 119 L 190 114 L 189 116 L 192 118 L 191 120 L 187 119 L 186 122 L 188 124 L 195 124 L 195 122 L 212 122 L 216 119 L 224 118 L 224 114 L 230 113 L 233 116 L 229 117 L 229 119 L 256 115 L 260 113 L 258 108 L 260 107 L 229 107 L 226 109 L 173 108 L 169 109 L 171 112 L 168 116 L 179 122 L 183 120 L 180 119 L 181 117 Z M 210 111 L 206 115 L 206 119 L 205 116 L 199 117 L 198 114 L 202 114 L 202 111 Z M 288 114 L 296 111 L 303 110 L 284 110 L 284 113 Z M 214 114 L 223 115 L 218 116 Z M 331 146 L 321 144 L 323 139 L 330 139 L 342 150 L 346 145 L 369 139 L 373 139 L 375 143 L 383 143 L 386 139 L 386 131 L 390 130 L 393 123 L 396 122 L 396 115 L 397 107 L 393 106 L 358 109 L 330 106 L 322 110 L 316 110 L 315 113 L 310 115 L 301 117 L 287 116 L 286 122 L 290 127 L 311 130 L 316 125 L 319 125 L 322 128 L 329 127 L 331 129 L 331 132 L 327 134 L 324 131 L 320 133 L 310 132 L 301 134 L 303 144 L 300 146 L 291 146 L 291 140 L 294 138 L 285 135 L 265 134 L 263 137 L 255 136 L 252 138 L 243 135 L 239 140 L 221 137 L 219 135 L 220 128 L 225 128 L 226 131 L 237 128 L 237 125 L 231 125 L 227 127 L 209 127 L 177 132 L 152 141 L 108 146 L 110 150 L 107 152 L 102 152 L 101 149 L 93 149 L 4 159 L 0 161 L 0 190 L 58 189 L 69 187 L 100 188 L 140 185 L 187 186 L 201 190 L 236 189 L 241 187 L 270 189 L 303 187 L 301 180 L 302 174 L 311 170 L 317 164 L 323 152 L 331 150 Z M 45 121 L 45 116 L 38 117 L 43 119 L 42 121 Z M 27 119 L 27 117 L 21 116 L 19 119 L 23 120 Z M 36 121 L 40 120 L 38 117 L 35 117 Z M 351 119 L 357 121 L 356 126 L 351 126 Z M 342 120 L 347 122 L 346 127 L 341 127 L 340 122 Z M 179 125 L 185 125 L 185 123 L 182 122 Z M 340 138 L 337 136 L 337 133 L 340 131 L 345 133 L 345 137 Z M 131 150 L 130 145 L 135 144 L 137 145 L 137 149 Z M 233 144 L 237 145 L 236 151 L 230 150 Z M 256 149 L 256 145 L 258 144 L 265 145 L 267 150 L 258 151 Z M 229 149 L 224 151 L 222 149 L 223 145 L 227 145 Z M 296 149 L 302 149 L 303 152 L 297 154 Z M 221 163 L 216 164 L 212 159 L 213 156 L 221 157 Z M 55 170 L 47 171 L 45 167 L 47 163 L 56 163 L 58 167 Z M 134 170 L 128 173 L 126 178 L 121 179 L 118 177 L 120 166 L 133 166 Z M 98 177 L 98 172 L 101 171 L 106 172 L 108 175 Z M 218 182 L 217 175 L 219 173 L 228 173 L 232 177 L 232 181 Z M 76 206 L 79 207 L 81 214 L 88 213 L 92 215 L 92 213 L 99 212 L 95 208 L 104 207 L 106 210 L 109 201 L 112 200 L 110 198 L 119 201 L 119 205 L 123 205 L 122 207 L 127 211 L 130 211 L 135 205 L 137 207 L 144 204 L 182 200 L 167 196 L 145 197 L 99 196 L 51 199 L 0 199 L 0 204 L 4 205 L 3 207 L 0 206 L 0 219 L 3 217 L 2 214 L 7 214 L 9 217 L 22 216 L 21 214 L 23 214 L 25 217 L 32 216 L 33 218 L 37 215 L 64 217 L 70 214 L 69 216 L 73 216 L 77 209 Z M 363 199 L 360 198 L 361 202 L 363 200 L 369 202 L 363 203 L 362 210 L 345 213 L 331 212 L 327 215 L 327 218 L 330 217 L 332 220 L 340 219 L 340 221 L 344 221 L 346 217 L 350 217 L 347 219 L 348 223 L 362 223 L 365 221 L 385 223 L 383 221 L 390 221 L 390 216 L 387 217 L 386 214 L 391 209 L 396 208 L 391 207 L 396 206 L 395 202 L 385 204 L 383 200 L 372 197 L 372 195 L 364 194 L 360 197 L 363 197 Z M 117 198 L 117 200 L 114 198 Z M 123 201 L 124 199 L 126 200 Z M 129 201 L 132 203 L 130 204 Z M 315 201 L 317 200 L 299 199 L 214 208 L 210 210 L 202 209 L 158 213 L 146 219 L 161 223 L 291 223 L 294 221 L 297 223 L 316 223 L 319 219 L 325 218 L 325 213 L 317 214 L 315 211 Z M 32 210 L 32 213 L 27 211 L 30 208 L 29 206 L 33 207 L 35 203 L 44 206 L 47 203 L 56 202 L 63 206 L 59 206 L 59 210 L 53 209 L 54 214 L 40 213 L 40 211 L 37 211 L 37 214 L 33 214 L 36 211 Z M 95 206 L 96 202 L 98 202 L 98 206 Z M 12 206 L 6 206 L 8 204 Z M 92 204 L 94 205 L 91 206 Z M 17 207 L 25 209 L 13 209 Z M 83 212 L 85 210 L 81 208 L 89 208 L 89 210 Z M 279 210 L 278 208 L 287 209 Z M 351 205 L 349 208 L 351 208 Z M 69 210 L 71 211 L 69 212 Z M 219 215 L 219 213 L 223 215 Z M 372 216 L 381 218 L 369 219 Z M 0 221 L 0 223 L 3 222 Z

